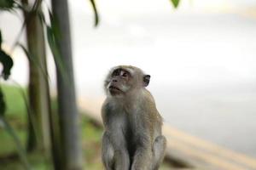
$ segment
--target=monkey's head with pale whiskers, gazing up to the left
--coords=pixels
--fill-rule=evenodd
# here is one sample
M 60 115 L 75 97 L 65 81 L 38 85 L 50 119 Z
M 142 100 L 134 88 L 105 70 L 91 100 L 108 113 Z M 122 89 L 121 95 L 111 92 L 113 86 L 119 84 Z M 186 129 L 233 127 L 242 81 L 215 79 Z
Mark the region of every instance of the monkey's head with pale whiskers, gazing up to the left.
M 150 76 L 131 65 L 119 65 L 113 67 L 105 80 L 104 88 L 108 95 L 125 96 L 147 87 Z

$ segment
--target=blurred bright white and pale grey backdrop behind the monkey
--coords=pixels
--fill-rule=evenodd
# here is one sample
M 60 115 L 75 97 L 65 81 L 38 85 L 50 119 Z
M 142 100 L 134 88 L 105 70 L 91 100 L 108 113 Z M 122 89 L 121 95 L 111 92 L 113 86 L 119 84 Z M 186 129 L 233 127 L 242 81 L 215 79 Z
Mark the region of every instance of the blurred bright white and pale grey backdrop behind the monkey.
M 68 5 L 78 99 L 100 108 L 109 69 L 136 65 L 151 75 L 148 89 L 166 124 L 256 157 L 256 1 L 183 0 L 175 9 L 168 0 L 97 0 L 96 28 L 89 1 Z M 6 51 L 21 24 L 0 13 Z M 26 56 L 15 49 L 12 58 L 11 77 L 26 86 Z

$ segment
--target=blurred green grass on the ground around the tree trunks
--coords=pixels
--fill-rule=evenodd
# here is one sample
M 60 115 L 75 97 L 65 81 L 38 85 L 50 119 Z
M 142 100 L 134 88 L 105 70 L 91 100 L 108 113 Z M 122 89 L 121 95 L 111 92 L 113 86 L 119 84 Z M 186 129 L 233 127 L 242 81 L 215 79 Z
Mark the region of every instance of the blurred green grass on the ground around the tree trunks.
M 26 124 L 26 105 L 21 94 L 20 88 L 9 85 L 1 85 L 3 89 L 4 99 L 7 105 L 5 116 L 11 126 L 15 129 L 15 133 L 22 146 L 26 146 L 27 124 Z M 24 89 L 22 89 L 24 90 Z M 56 109 L 56 102 L 53 102 L 53 108 Z M 82 147 L 84 151 L 84 167 L 86 169 L 96 170 L 102 169 L 101 161 L 101 139 L 102 129 L 96 127 L 93 122 L 84 114 L 81 114 L 81 137 Z M 0 127 L 0 169 L 1 170 L 22 170 L 19 157 L 15 154 L 16 147 L 13 139 L 3 128 Z M 27 155 L 28 161 L 32 169 L 49 170 L 51 165 L 46 161 L 42 153 L 34 152 Z

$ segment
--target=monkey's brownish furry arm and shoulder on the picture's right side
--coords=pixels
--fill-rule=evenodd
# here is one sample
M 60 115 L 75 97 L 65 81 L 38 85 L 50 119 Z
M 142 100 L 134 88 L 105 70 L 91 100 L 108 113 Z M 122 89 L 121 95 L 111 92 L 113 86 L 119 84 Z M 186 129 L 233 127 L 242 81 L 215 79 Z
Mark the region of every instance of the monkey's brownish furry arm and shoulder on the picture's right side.
M 132 162 L 131 170 L 148 170 L 153 167 L 154 136 L 160 133 L 160 120 L 156 110 L 154 99 L 145 90 L 145 100 L 140 104 L 143 109 L 133 114 L 135 121 L 137 150 Z

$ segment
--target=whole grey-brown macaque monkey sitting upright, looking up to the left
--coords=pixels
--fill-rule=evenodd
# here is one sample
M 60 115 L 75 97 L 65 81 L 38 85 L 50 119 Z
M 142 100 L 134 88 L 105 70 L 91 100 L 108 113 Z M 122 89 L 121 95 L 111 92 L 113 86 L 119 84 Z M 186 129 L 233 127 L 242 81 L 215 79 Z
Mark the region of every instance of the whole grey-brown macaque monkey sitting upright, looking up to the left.
M 154 98 L 145 88 L 149 80 L 149 75 L 130 65 L 116 66 L 108 73 L 107 99 L 102 105 L 102 161 L 107 170 L 160 167 L 166 138 Z

